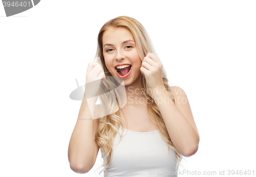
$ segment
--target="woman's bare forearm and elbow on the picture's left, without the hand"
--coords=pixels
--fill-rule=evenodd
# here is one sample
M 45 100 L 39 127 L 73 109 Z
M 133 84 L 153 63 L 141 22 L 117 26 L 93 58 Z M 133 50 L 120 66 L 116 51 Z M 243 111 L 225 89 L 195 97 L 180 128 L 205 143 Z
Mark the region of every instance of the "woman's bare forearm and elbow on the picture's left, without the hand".
M 76 173 L 90 171 L 99 151 L 99 145 L 95 141 L 98 120 L 94 116 L 97 115 L 99 107 L 95 103 L 96 101 L 90 99 L 89 101 L 87 99 L 82 101 L 78 119 L 70 139 L 68 158 L 71 169 Z M 94 111 L 94 114 L 91 114 L 90 110 Z

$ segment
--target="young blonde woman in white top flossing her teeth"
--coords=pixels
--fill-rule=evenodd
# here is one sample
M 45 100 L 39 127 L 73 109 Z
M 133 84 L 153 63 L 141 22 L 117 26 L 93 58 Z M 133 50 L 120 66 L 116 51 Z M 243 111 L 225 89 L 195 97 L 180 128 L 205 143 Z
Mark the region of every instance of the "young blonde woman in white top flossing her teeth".
M 88 65 L 94 86 L 86 85 L 70 139 L 71 169 L 90 171 L 100 148 L 104 176 L 177 176 L 182 157 L 198 150 L 199 133 L 185 92 L 169 86 L 144 27 L 127 16 L 111 19 L 99 32 L 96 57 L 102 65 Z M 124 106 L 114 90 L 121 82 L 110 77 L 122 80 Z M 108 94 L 99 94 L 102 85 Z

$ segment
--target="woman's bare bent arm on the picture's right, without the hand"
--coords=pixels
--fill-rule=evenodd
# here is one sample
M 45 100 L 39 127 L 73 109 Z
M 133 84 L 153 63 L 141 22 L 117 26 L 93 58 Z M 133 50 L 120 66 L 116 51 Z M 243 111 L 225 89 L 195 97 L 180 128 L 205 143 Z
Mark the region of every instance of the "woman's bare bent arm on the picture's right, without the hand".
M 152 96 L 174 146 L 184 157 L 190 157 L 198 150 L 198 129 L 185 92 L 178 86 L 172 86 L 170 89 L 173 91 L 175 104 L 164 86 L 160 87 Z

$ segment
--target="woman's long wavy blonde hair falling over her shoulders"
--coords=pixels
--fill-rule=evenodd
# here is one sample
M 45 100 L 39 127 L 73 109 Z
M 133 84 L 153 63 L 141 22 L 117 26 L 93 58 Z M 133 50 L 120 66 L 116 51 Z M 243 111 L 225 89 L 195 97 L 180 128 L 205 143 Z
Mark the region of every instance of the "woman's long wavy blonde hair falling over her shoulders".
M 103 49 L 102 49 L 102 36 L 106 30 L 109 28 L 126 28 L 129 30 L 132 35 L 134 36 L 137 51 L 139 54 L 139 57 L 141 61 L 146 56 L 147 52 L 154 53 L 154 48 L 152 46 L 152 42 L 150 37 L 148 36 L 146 30 L 144 27 L 134 18 L 127 17 L 127 16 L 119 16 L 114 19 L 109 20 L 106 22 L 102 28 L 99 31 L 98 34 L 98 47 L 97 47 L 97 53 L 96 58 L 100 58 L 100 61 L 102 63 L 102 67 L 105 73 L 106 78 L 108 76 L 112 76 L 109 70 L 106 68 L 104 57 L 103 57 Z M 170 86 L 168 84 L 168 79 L 166 76 L 166 72 L 164 68 L 162 67 L 162 79 L 165 86 L 165 90 L 168 92 L 170 97 L 172 97 L 172 100 L 175 102 L 175 98 L 173 96 L 172 90 L 170 89 Z M 106 85 L 108 86 L 108 85 Z M 146 86 L 146 80 L 145 77 L 140 74 L 140 86 L 141 90 L 143 91 L 143 94 L 146 96 L 148 100 L 150 100 L 150 103 L 147 104 L 147 110 L 148 115 L 150 116 L 151 120 L 156 124 L 161 137 L 166 141 L 167 145 L 175 150 L 176 153 L 176 161 L 178 164 L 180 164 L 180 161 L 182 159 L 182 154 L 178 152 L 178 150 L 175 148 L 172 140 L 169 137 L 168 131 L 166 129 L 164 120 L 161 116 L 161 113 L 159 111 L 159 108 L 157 107 L 154 99 L 152 98 L 150 92 L 147 90 Z M 112 88 L 113 89 L 113 88 Z M 110 89 L 110 91 L 112 90 Z M 145 92 L 144 92 L 145 91 Z M 110 92 L 112 96 L 115 98 L 117 96 L 116 93 Z M 120 110 L 118 105 L 117 99 L 109 99 L 105 97 L 104 95 L 99 95 L 99 100 L 101 103 L 104 103 L 104 106 L 100 109 L 101 113 L 112 113 L 108 116 L 103 116 L 98 119 L 98 128 L 96 131 L 95 140 L 98 143 L 99 147 L 101 148 L 101 151 L 103 152 L 102 157 L 104 156 L 104 168 L 99 172 L 105 170 L 106 167 L 110 164 L 110 161 L 112 160 L 112 154 L 113 154 L 113 139 L 116 136 L 118 132 L 119 126 L 123 127 L 123 122 L 120 118 Z M 105 114 L 106 115 L 106 114 Z M 116 127 L 117 125 L 117 127 Z M 124 130 L 122 129 L 122 132 Z M 120 134 L 119 134 L 120 135 Z M 121 137 L 121 136 L 120 136 Z M 169 154 L 169 148 L 168 148 L 168 154 Z M 176 163 L 176 169 L 177 165 Z M 102 167 L 101 166 L 101 167 Z

